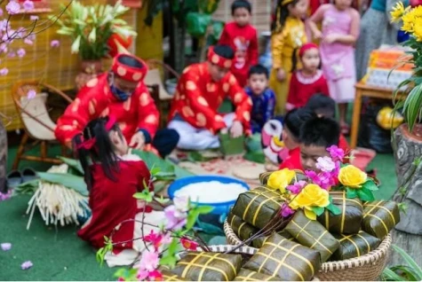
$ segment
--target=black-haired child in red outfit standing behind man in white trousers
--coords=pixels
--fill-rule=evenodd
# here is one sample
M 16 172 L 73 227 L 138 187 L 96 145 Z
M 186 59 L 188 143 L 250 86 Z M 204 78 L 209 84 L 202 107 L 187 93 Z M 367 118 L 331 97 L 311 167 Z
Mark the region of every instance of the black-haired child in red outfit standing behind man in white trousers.
M 232 4 L 232 22 L 226 24 L 219 38 L 219 44 L 228 45 L 235 51 L 231 73 L 240 86 L 245 87 L 251 66 L 258 64 L 257 30 L 250 24 L 251 3 L 235 0 Z

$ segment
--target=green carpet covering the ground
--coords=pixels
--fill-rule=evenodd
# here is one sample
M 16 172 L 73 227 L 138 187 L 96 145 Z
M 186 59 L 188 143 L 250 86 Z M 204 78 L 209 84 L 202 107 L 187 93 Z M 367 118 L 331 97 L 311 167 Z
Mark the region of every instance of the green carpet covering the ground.
M 9 169 L 15 153 L 16 147 L 10 148 Z M 58 153 L 60 150 L 53 148 L 50 154 L 55 156 Z M 51 167 L 32 161 L 22 161 L 20 164 L 20 168 L 28 166 L 36 170 Z M 389 199 L 397 183 L 393 156 L 378 154 L 370 168 L 378 169 L 378 178 L 382 183 L 376 192 L 377 198 Z M 36 213 L 27 231 L 28 215 L 25 212 L 28 200 L 28 196 L 19 196 L 0 202 L 0 243 L 12 243 L 10 251 L 0 250 L 0 280 L 115 280 L 115 269 L 107 266 L 100 268 L 92 247 L 76 237 L 77 227 L 60 227 L 56 231 L 45 226 Z M 26 261 L 33 262 L 34 266 L 29 270 L 20 270 L 20 264 Z

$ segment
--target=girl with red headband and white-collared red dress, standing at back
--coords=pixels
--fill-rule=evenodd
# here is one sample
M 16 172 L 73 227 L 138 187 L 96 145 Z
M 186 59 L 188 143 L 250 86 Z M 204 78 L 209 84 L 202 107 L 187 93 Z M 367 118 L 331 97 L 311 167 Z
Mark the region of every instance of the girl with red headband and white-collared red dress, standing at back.
M 329 96 L 327 81 L 325 80 L 321 65 L 320 53 L 315 43 L 306 43 L 299 50 L 302 69 L 291 75 L 289 95 L 286 110 L 307 105 L 307 101 L 316 93 Z

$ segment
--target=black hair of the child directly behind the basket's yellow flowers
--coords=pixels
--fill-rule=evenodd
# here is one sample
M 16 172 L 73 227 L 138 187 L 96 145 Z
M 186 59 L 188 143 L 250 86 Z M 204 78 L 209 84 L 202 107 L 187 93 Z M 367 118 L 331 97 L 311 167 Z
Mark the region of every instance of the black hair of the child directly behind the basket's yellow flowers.
M 340 126 L 338 122 L 326 118 L 315 117 L 306 121 L 300 128 L 299 142 L 303 145 L 323 146 L 338 145 Z

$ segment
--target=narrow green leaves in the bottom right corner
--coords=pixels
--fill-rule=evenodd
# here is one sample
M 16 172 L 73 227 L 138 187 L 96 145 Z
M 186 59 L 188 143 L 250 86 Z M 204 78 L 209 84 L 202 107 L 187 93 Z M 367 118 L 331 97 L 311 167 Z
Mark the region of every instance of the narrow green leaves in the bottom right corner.
M 395 252 L 402 255 L 402 258 L 407 265 L 396 265 L 391 268 L 386 268 L 382 273 L 382 279 L 384 281 L 421 281 L 422 269 L 418 266 L 418 263 L 416 263 L 401 247 L 393 245 L 393 249 Z

